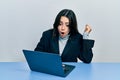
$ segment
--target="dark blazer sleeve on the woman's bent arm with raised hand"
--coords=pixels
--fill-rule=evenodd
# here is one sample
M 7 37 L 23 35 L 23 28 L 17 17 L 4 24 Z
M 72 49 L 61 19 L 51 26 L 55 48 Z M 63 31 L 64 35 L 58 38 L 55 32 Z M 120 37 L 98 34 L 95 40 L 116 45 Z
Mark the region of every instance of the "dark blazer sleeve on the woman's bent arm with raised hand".
M 95 42 L 94 40 L 90 40 L 90 39 L 83 39 L 82 41 L 82 50 L 80 54 L 80 59 L 84 63 L 90 63 L 92 61 L 93 58 L 92 48 L 94 46 L 94 42 Z

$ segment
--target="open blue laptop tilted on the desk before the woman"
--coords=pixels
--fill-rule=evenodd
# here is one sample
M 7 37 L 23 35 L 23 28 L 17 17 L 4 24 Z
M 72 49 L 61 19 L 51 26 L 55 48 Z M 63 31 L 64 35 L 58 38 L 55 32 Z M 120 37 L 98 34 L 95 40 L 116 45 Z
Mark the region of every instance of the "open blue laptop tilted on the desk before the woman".
M 73 65 L 62 64 L 58 54 L 23 50 L 27 63 L 32 71 L 66 77 L 74 68 Z

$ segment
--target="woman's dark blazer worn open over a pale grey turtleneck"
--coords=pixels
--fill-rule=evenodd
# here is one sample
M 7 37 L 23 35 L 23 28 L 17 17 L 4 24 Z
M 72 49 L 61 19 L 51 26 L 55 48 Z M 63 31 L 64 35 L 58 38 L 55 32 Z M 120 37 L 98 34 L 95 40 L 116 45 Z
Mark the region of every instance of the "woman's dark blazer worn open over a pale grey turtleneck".
M 43 32 L 35 51 L 59 54 L 58 36 L 53 37 L 53 29 Z M 83 39 L 81 34 L 70 36 L 61 55 L 63 62 L 77 62 L 79 58 L 84 63 L 90 63 L 93 57 L 94 40 Z

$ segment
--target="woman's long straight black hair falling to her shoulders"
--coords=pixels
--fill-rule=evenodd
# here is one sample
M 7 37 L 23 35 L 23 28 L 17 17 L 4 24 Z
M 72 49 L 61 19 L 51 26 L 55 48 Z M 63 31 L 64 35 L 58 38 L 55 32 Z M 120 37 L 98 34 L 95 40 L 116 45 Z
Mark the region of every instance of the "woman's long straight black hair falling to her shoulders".
M 70 9 L 63 9 L 56 16 L 55 22 L 53 24 L 53 30 L 54 30 L 53 35 L 55 36 L 58 34 L 58 26 L 60 24 L 60 18 L 62 16 L 65 16 L 69 19 L 70 35 L 79 33 L 77 28 L 77 20 L 75 13 Z

